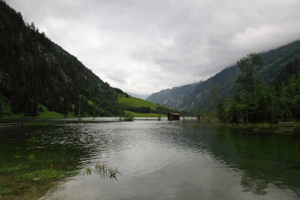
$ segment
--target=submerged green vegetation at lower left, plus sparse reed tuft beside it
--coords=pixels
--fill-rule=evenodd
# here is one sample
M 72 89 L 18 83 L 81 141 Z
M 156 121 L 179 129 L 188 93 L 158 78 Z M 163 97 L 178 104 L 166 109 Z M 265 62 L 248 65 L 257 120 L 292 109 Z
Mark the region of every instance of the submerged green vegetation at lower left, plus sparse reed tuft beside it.
M 37 146 L 38 138 L 32 136 L 26 143 Z M 101 178 L 117 180 L 120 175 L 118 167 L 111 167 L 107 163 L 97 163 L 93 168 L 88 167 L 80 172 L 75 166 L 71 167 L 74 162 L 71 158 L 65 161 L 68 167 L 62 167 L 65 164 L 61 160 L 66 158 L 60 155 L 49 158 L 42 154 L 16 153 L 6 158 L 5 162 L 0 161 L 0 199 L 35 199 L 54 187 L 57 181 L 70 176 L 96 173 Z M 38 191 L 30 194 L 32 190 Z

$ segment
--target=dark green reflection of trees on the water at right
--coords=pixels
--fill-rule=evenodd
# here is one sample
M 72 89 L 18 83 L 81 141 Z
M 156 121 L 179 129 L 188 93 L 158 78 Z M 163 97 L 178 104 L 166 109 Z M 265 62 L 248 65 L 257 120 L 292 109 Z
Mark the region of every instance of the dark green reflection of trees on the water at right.
M 265 195 L 268 185 L 275 185 L 300 195 L 300 137 L 215 131 L 208 148 L 217 159 L 244 172 L 240 183 L 245 191 Z

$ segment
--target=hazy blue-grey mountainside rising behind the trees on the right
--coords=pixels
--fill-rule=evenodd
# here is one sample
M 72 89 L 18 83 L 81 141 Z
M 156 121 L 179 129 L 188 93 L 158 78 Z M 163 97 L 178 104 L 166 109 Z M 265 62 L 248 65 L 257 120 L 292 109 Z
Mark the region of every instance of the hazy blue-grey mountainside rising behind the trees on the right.
M 264 67 L 259 76 L 270 84 L 289 61 L 300 58 L 300 41 L 262 53 L 262 57 Z M 172 108 L 185 111 L 210 109 L 211 86 L 217 84 L 220 95 L 232 97 L 237 91 L 238 85 L 235 81 L 239 72 L 237 66 L 227 67 L 206 81 L 162 90 L 153 93 L 146 100 L 159 104 L 167 103 Z

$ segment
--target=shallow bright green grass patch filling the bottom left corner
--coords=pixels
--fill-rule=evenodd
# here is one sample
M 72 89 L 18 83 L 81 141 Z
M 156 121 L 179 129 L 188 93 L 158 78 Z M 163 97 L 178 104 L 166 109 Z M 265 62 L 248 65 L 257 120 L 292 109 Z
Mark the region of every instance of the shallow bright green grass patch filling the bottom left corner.
M 0 199 L 38 199 L 57 181 L 79 174 L 78 170 L 53 167 L 34 154 L 14 155 L 13 162 L 0 167 Z

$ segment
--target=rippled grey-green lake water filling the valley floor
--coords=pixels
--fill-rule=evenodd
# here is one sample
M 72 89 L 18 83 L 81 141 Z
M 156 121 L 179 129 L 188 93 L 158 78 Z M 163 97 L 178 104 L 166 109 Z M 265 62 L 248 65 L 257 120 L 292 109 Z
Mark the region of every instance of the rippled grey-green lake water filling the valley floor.
M 0 130 L 3 165 L 32 154 L 81 172 L 42 199 L 300 199 L 300 137 L 291 135 L 165 119 Z M 120 174 L 99 175 L 99 163 Z

